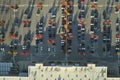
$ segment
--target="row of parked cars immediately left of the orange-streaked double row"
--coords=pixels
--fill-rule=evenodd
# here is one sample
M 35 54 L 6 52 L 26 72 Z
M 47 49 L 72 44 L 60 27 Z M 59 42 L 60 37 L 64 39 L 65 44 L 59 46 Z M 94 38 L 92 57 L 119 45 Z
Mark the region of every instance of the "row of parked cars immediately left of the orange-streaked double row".
M 56 15 L 57 15 L 58 7 L 53 5 L 50 8 L 50 19 L 48 21 L 48 52 L 55 53 L 56 52 L 56 32 L 57 32 L 57 22 L 56 22 Z

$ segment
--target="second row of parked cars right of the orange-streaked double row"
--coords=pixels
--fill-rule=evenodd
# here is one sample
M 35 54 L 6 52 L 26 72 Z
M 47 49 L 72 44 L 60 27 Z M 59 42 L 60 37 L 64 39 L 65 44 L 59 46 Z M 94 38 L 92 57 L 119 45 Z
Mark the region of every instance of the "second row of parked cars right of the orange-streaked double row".
M 97 8 L 93 8 L 91 10 L 91 23 L 90 23 L 90 53 L 95 53 L 96 50 L 96 42 L 98 43 L 99 34 L 98 31 L 100 29 L 99 26 L 99 13 Z

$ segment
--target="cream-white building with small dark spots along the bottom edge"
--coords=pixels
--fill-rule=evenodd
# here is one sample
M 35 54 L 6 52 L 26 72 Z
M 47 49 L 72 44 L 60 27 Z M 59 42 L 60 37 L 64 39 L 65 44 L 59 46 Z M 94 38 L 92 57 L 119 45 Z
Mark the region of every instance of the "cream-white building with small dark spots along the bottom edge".
M 88 66 L 29 66 L 28 77 L 1 76 L 0 80 L 120 80 L 107 78 L 107 67 Z

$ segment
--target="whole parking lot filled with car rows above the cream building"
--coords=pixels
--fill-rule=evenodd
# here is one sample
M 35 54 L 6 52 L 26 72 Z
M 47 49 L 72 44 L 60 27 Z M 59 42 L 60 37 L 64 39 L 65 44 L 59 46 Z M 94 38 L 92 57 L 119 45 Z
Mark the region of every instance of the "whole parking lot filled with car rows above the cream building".
M 66 11 L 66 4 L 60 0 L 0 0 L 3 61 L 15 55 L 16 61 L 94 63 L 97 59 L 97 64 L 117 63 L 120 47 L 116 26 L 120 28 L 120 10 L 115 7 L 120 2 L 70 1 Z M 39 2 L 42 5 L 38 6 Z

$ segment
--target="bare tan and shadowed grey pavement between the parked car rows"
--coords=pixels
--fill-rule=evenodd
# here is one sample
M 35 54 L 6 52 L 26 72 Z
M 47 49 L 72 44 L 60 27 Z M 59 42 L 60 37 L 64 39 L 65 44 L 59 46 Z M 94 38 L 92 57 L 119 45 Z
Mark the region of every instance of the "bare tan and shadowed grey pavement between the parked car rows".
M 60 42 L 60 33 L 59 30 L 62 26 L 62 11 L 61 11 L 61 6 L 59 4 L 60 0 L 44 0 L 43 3 L 43 9 L 40 10 L 40 15 L 36 15 L 38 8 L 35 6 L 37 1 L 41 1 L 41 0 L 34 0 L 35 1 L 35 5 L 33 6 L 32 3 L 34 2 L 33 0 L 31 0 L 31 5 L 30 5 L 30 9 L 33 8 L 32 13 L 30 13 L 32 16 L 29 19 L 31 21 L 31 25 L 30 27 L 24 27 L 24 24 L 22 23 L 23 20 L 26 20 L 27 15 L 24 14 L 25 10 L 28 8 L 28 3 L 30 0 L 0 0 L 0 10 L 1 10 L 1 6 L 3 6 L 3 4 L 5 4 L 5 8 L 3 11 L 0 11 L 0 18 L 5 20 L 5 41 L 4 43 L 8 46 L 6 46 L 7 48 L 5 49 L 6 51 L 4 52 L 5 55 L 3 57 L 3 60 L 9 61 L 11 60 L 10 57 L 12 57 L 12 55 L 8 54 L 9 51 L 9 45 L 11 43 L 11 41 L 13 40 L 13 38 L 10 38 L 9 33 L 11 30 L 13 30 L 12 28 L 14 28 L 14 32 L 18 31 L 18 38 L 16 38 L 17 40 L 19 40 L 19 45 L 18 45 L 18 54 L 16 55 L 15 59 L 16 61 L 22 61 L 22 60 L 28 60 L 28 61 L 35 61 L 35 62 L 48 62 L 48 61 L 65 61 L 66 60 L 66 54 L 63 53 L 61 51 L 61 42 Z M 115 35 L 116 35 L 116 28 L 115 28 L 115 22 L 116 22 L 116 18 L 119 16 L 118 14 L 120 13 L 115 13 L 115 8 L 111 7 L 112 11 L 110 13 L 110 20 L 112 21 L 111 24 L 111 50 L 110 52 L 103 52 L 103 47 L 105 46 L 105 44 L 103 43 L 103 10 L 106 8 L 107 6 L 107 1 L 110 1 L 110 5 L 117 5 L 120 4 L 117 2 L 112 2 L 113 0 L 98 0 L 98 14 L 99 14 L 99 29 L 97 31 L 97 34 L 99 34 L 99 39 L 98 41 L 94 44 L 95 47 L 95 52 L 94 53 L 90 53 L 90 47 L 91 47 L 91 43 L 90 43 L 90 21 L 91 21 L 91 11 L 93 10 L 93 8 L 90 7 L 90 1 L 86 0 L 86 2 L 84 3 L 85 8 L 87 9 L 87 14 L 86 14 L 86 34 L 85 34 L 85 45 L 86 45 L 86 55 L 81 55 L 78 54 L 78 45 L 79 45 L 79 41 L 78 41 L 78 33 L 77 33 L 77 18 L 78 18 L 78 14 L 81 11 L 80 9 L 78 9 L 78 0 L 74 0 L 74 10 L 73 10 L 73 15 L 72 15 L 72 25 L 71 28 L 73 30 L 72 34 L 73 34 L 73 38 L 72 38 L 72 52 L 71 54 L 67 55 L 68 61 L 80 61 L 80 62 L 95 62 L 97 60 L 97 64 L 101 63 L 108 63 L 112 64 L 112 63 L 117 63 L 118 61 L 118 56 L 115 54 Z M 55 6 L 53 6 L 55 2 Z M 8 5 L 15 5 L 18 4 L 18 6 L 20 6 L 17 10 L 8 8 Z M 56 46 L 55 46 L 55 52 L 52 50 L 53 49 L 53 45 L 49 44 L 47 42 L 48 40 L 48 21 L 50 20 L 51 17 L 51 13 L 49 13 L 49 10 L 51 8 L 55 9 L 58 8 L 57 14 L 56 14 L 56 27 L 57 27 L 57 31 L 56 31 Z M 6 12 L 7 10 L 7 12 Z M 38 52 L 36 51 L 36 41 L 35 41 L 35 33 L 36 33 L 36 25 L 37 22 L 40 21 L 40 18 L 44 16 L 44 32 L 43 32 L 43 43 L 38 45 Z M 12 24 L 14 23 L 14 19 L 15 17 L 18 17 L 20 19 L 20 26 L 13 26 Z M 0 26 L 1 27 L 1 26 Z M 24 43 L 24 36 L 25 34 L 28 33 L 28 31 L 31 31 L 32 33 L 32 41 L 31 41 L 31 47 L 30 47 L 30 53 L 28 55 L 23 55 L 20 54 L 20 52 L 22 51 L 21 46 Z M 21 37 L 21 39 L 20 39 Z M 48 49 L 50 49 L 50 51 L 48 51 Z M 1 52 L 2 53 L 2 52 Z M 8 60 L 7 60 L 7 57 Z M 113 62 L 111 62 L 113 61 Z

